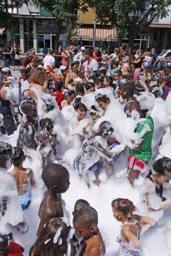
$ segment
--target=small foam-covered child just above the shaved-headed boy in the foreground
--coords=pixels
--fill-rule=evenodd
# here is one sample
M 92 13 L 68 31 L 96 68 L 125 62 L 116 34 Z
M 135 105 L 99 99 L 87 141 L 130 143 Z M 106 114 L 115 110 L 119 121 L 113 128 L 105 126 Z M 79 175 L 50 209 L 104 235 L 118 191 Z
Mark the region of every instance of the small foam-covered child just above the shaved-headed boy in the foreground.
M 41 173 L 47 164 L 54 162 L 53 148 L 51 147 L 52 136 L 47 130 L 39 129 L 34 134 L 34 139 L 39 146 L 37 147 L 38 159 L 40 160 Z

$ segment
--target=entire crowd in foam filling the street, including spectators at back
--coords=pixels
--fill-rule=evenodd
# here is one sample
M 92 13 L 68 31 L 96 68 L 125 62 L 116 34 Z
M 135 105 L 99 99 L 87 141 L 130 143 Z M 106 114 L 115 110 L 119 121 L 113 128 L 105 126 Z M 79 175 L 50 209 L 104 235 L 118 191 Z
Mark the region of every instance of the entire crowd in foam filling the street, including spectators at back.
M 66 256 L 68 246 L 71 256 L 105 255 L 100 212 L 85 199 L 65 197 L 76 201 L 70 225 L 62 195 L 72 175 L 85 193 L 100 189 L 121 162 L 126 172 L 118 177 L 128 180 L 130 191 L 137 189 L 144 214 L 136 214 L 132 200 L 112 196 L 111 211 L 121 222 L 118 255 L 141 255 L 144 232 L 169 218 L 163 217 L 171 206 L 164 184 L 171 180 L 171 159 L 163 148 L 171 141 L 170 70 L 161 67 L 153 74 L 159 62 L 155 49 L 138 50 L 135 56 L 122 47 L 108 56 L 104 49 L 100 61 L 97 47 L 93 52 L 82 46 L 77 54 L 74 49 L 62 49 L 58 71 L 53 49 L 42 64 L 31 49 L 18 80 L 0 51 L 0 255 L 26 255 L 34 227 L 24 212 L 37 204 L 35 191 L 43 196 L 34 212 L 40 221 L 29 256 Z M 15 69 L 22 50 L 14 43 L 10 51 Z M 158 74 L 156 85 L 150 86 Z

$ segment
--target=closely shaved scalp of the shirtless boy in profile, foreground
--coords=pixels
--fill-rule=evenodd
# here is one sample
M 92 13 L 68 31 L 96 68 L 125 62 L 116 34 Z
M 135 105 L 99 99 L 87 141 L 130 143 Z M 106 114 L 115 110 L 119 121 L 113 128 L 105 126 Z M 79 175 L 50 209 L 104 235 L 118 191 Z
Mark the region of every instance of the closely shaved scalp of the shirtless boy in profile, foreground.
M 68 170 L 58 163 L 49 163 L 43 169 L 42 180 L 47 188 L 53 187 L 56 184 L 61 184 L 65 176 L 69 176 Z

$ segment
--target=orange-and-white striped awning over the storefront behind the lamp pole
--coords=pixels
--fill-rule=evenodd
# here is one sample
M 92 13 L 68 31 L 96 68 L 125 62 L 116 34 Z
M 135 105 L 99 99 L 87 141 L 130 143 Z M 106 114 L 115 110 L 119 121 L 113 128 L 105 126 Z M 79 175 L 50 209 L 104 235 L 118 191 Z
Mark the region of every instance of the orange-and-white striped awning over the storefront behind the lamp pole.
M 94 27 L 80 27 L 72 39 L 82 39 L 84 41 L 93 41 Z M 117 40 L 117 31 L 112 27 L 96 27 L 95 41 L 114 41 Z

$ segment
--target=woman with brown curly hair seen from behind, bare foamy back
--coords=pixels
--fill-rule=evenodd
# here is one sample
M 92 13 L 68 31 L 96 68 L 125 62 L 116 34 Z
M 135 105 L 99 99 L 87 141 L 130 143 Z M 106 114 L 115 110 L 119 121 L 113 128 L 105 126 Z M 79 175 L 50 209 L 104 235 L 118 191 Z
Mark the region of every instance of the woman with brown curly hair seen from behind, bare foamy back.
M 35 68 L 30 76 L 30 80 L 30 95 L 32 98 L 37 100 L 37 98 L 40 98 L 42 93 L 44 93 L 47 89 L 48 77 L 45 70 L 42 68 Z

